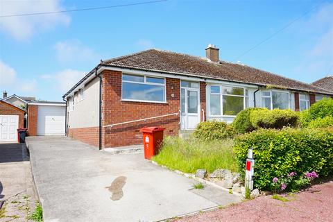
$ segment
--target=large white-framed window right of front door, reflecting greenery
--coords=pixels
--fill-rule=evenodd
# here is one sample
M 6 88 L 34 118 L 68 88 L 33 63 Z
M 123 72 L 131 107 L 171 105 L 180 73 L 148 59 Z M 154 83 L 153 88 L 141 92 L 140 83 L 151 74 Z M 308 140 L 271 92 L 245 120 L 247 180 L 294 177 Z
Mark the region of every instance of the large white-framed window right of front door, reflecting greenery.
M 225 85 L 210 86 L 210 116 L 234 117 L 246 107 L 246 90 Z

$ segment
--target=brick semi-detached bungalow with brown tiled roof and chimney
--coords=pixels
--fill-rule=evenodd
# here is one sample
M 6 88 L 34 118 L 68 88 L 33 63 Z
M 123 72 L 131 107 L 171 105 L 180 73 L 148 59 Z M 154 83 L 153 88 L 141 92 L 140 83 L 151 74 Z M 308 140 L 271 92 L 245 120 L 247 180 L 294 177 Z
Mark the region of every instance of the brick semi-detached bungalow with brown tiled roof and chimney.
M 108 148 L 141 144 L 144 126 L 165 135 L 194 130 L 200 121 L 231 122 L 248 107 L 305 110 L 327 89 L 268 71 L 219 60 L 150 49 L 101 61 L 63 96 L 67 135 Z

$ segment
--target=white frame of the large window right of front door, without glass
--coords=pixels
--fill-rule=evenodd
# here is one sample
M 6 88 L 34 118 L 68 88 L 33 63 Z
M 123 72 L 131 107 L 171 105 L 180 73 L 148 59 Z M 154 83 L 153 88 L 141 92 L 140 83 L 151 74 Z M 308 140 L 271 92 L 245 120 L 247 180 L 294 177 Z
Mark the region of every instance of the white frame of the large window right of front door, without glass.
M 211 87 L 214 87 L 214 86 L 218 86 L 219 87 L 219 92 L 212 92 L 211 91 Z M 225 94 L 223 93 L 223 90 L 221 89 L 221 87 L 234 87 L 234 88 L 240 88 L 240 89 L 243 89 L 243 95 L 236 95 L 236 94 Z M 243 98 L 243 110 L 246 109 L 246 90 L 248 90 L 246 87 L 241 87 L 241 86 L 236 86 L 236 85 L 223 85 L 223 84 L 210 84 L 209 87 L 208 87 L 208 93 L 210 95 L 210 103 L 207 105 L 209 108 L 210 108 L 210 116 L 209 117 L 236 117 L 237 115 L 224 115 L 223 114 L 223 96 L 234 96 L 234 97 L 242 97 Z M 220 114 L 219 115 L 213 115 L 212 114 L 212 110 L 211 110 L 211 103 L 212 103 L 212 100 L 211 100 L 211 95 L 212 94 L 215 94 L 215 95 L 219 95 L 219 98 L 220 98 Z

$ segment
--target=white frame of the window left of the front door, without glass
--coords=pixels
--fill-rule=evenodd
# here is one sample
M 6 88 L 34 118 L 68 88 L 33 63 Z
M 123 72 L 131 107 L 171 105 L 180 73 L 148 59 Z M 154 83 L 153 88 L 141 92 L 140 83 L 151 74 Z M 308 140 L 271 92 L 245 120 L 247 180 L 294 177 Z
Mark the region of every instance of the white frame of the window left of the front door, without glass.
M 123 80 L 123 75 L 130 75 L 130 76 L 143 76 L 144 82 L 135 82 L 130 80 Z M 162 78 L 164 83 L 149 83 L 146 81 L 147 77 L 151 78 Z M 164 101 L 151 101 L 151 100 L 142 100 L 142 99 L 124 99 L 123 98 L 123 83 L 135 83 L 141 85 L 156 85 L 156 86 L 163 86 L 164 87 Z M 129 102 L 140 102 L 140 103 L 167 103 L 167 78 L 161 76 L 151 76 L 151 75 L 144 75 L 144 74 L 130 74 L 130 73 L 122 73 L 121 74 L 121 101 L 129 101 Z

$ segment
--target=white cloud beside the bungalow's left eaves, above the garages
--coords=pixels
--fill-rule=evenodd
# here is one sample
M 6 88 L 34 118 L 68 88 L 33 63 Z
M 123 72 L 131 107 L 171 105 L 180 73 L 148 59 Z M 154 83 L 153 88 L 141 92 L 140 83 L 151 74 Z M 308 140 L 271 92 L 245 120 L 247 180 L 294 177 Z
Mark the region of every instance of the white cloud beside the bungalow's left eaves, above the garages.
M 45 80 L 53 81 L 53 86 L 60 89 L 62 93 L 65 93 L 78 83 L 83 76 L 85 76 L 84 71 L 65 69 L 55 74 L 44 74 L 40 77 Z

